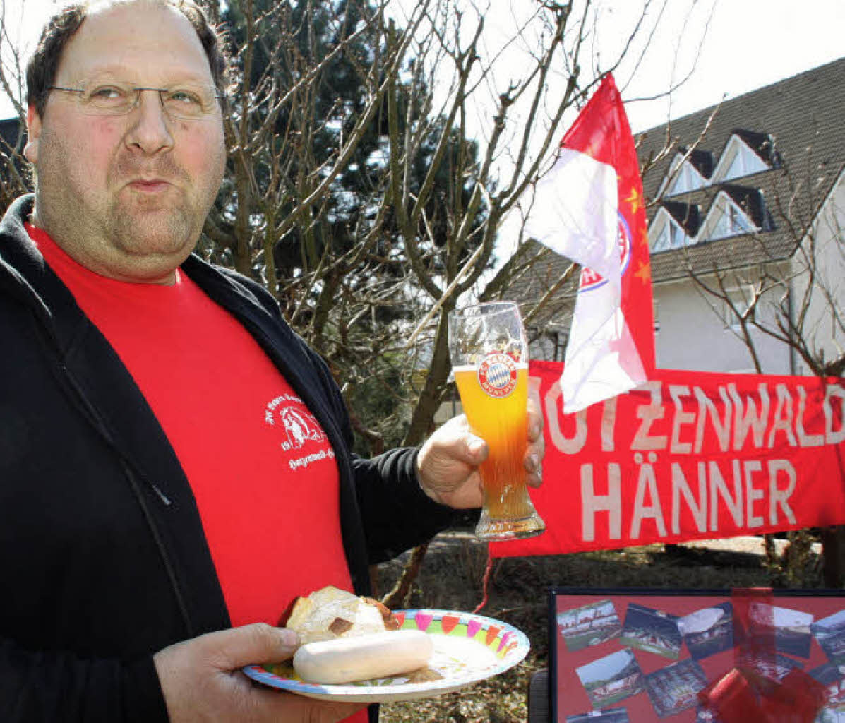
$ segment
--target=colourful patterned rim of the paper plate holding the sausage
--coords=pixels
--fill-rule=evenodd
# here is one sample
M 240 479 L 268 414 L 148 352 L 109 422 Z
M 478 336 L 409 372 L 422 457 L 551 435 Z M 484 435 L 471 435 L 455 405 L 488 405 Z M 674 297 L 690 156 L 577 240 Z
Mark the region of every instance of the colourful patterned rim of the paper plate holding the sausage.
M 402 629 L 423 630 L 430 635 L 453 638 L 450 639 L 450 646 L 465 645 L 462 642 L 464 640 L 472 641 L 488 649 L 493 655 L 482 653 L 480 657 L 486 659 L 483 664 L 475 660 L 468 664 L 459 663 L 455 670 L 449 669 L 441 680 L 416 683 L 407 682 L 405 677 L 395 676 L 344 685 L 318 685 L 303 682 L 295 676 L 277 675 L 263 665 L 247 665 L 243 672 L 264 685 L 309 698 L 358 703 L 389 702 L 450 693 L 499 675 L 521 662 L 531 648 L 525 633 L 492 617 L 446 610 L 401 610 L 394 611 L 394 614 L 401 622 Z

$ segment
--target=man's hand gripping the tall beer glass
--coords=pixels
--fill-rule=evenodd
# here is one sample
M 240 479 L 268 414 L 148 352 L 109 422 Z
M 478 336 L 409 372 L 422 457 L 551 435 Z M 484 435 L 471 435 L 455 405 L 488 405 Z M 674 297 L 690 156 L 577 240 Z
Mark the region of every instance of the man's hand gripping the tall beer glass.
M 528 446 L 525 468 L 528 485 L 542 482 L 542 457 L 545 441 L 537 386 L 528 395 Z M 417 457 L 420 486 L 434 501 L 456 509 L 481 507 L 481 475 L 478 465 L 487 459 L 487 442 L 472 434 L 466 416 L 453 417 L 423 444 Z

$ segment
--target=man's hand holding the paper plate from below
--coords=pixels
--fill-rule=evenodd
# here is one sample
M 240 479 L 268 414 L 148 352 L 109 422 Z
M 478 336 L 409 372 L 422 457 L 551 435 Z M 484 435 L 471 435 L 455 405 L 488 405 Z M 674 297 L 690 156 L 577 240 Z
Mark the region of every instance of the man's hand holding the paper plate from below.
M 208 633 L 160 650 L 155 671 L 172 723 L 343 720 L 362 704 L 325 703 L 255 684 L 240 671 L 252 663 L 290 658 L 297 634 L 262 623 Z

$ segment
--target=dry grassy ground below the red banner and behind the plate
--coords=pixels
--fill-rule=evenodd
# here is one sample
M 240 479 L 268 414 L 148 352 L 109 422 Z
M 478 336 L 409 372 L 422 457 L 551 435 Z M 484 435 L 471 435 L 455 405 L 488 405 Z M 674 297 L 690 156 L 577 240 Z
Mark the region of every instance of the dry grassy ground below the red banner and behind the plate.
M 404 557 L 379 569 L 389 589 Z M 469 533 L 440 535 L 428 550 L 409 608 L 472 611 L 482 600 L 487 547 Z M 662 545 L 578 555 L 497 560 L 480 614 L 518 627 L 532 649 L 521 665 L 456 693 L 384 704 L 381 723 L 516 723 L 527 720 L 532 674 L 548 665 L 548 588 L 729 589 L 771 586 L 760 556 Z M 807 587 L 817 587 L 809 580 Z

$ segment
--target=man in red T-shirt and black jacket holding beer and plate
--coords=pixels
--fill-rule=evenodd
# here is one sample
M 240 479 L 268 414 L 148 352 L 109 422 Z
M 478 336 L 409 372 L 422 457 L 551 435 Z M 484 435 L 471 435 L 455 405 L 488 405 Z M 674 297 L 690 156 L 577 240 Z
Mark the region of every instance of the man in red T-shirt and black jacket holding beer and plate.
M 221 78 L 185 0 L 68 8 L 30 62 L 35 196 L 0 225 L 0 720 L 366 720 L 240 668 L 292 655 L 295 595 L 365 594 L 369 564 L 480 504 L 463 419 L 353 457 L 275 301 L 191 255 Z

